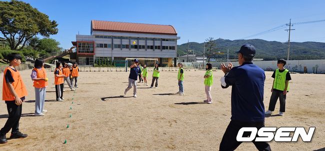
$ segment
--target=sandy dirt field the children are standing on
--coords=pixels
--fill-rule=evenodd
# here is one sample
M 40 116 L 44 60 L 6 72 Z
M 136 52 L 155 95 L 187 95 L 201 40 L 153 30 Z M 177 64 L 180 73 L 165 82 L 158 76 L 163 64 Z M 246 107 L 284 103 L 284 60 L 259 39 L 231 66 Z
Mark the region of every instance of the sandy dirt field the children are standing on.
M 47 72 L 50 80 L 44 109 L 48 112 L 43 117 L 32 116 L 31 70 L 20 73 L 29 95 L 23 103 L 19 128 L 28 137 L 8 140 L 7 144 L 0 145 L 0 151 L 216 151 L 230 121 L 231 89 L 221 89 L 219 79 L 223 74 L 220 70 L 214 72 L 212 104 L 202 103 L 204 71 L 185 71 L 184 96 L 174 94 L 178 91 L 177 73 L 163 71 L 157 89 L 138 84 L 137 98 L 131 97 L 132 89 L 120 97 L 127 87 L 128 72 L 81 72 L 79 88 L 75 93 L 64 92 L 63 102 L 54 101 L 53 74 Z M 265 108 L 271 95 L 271 74 L 266 72 Z M 325 149 L 325 75 L 291 74 L 291 77 L 284 116 L 265 118 L 265 126 L 314 126 L 316 130 L 311 143 L 303 143 L 301 139 L 297 143 L 272 141 L 271 149 Z M 278 110 L 279 103 L 275 113 Z M 6 118 L 6 106 L 2 102 L 0 127 Z M 63 144 L 64 140 L 67 144 Z M 237 151 L 255 150 L 252 143 L 243 143 L 237 148 Z

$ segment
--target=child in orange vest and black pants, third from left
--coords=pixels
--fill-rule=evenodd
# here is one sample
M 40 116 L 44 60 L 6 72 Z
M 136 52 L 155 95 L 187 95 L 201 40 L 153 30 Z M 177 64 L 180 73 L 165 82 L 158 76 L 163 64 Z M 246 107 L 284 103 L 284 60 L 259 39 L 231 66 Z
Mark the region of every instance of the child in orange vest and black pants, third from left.
M 55 84 L 55 94 L 56 101 L 63 101 L 63 83 L 65 75 L 62 73 L 61 62 L 56 63 L 56 69 L 54 71 L 54 84 Z

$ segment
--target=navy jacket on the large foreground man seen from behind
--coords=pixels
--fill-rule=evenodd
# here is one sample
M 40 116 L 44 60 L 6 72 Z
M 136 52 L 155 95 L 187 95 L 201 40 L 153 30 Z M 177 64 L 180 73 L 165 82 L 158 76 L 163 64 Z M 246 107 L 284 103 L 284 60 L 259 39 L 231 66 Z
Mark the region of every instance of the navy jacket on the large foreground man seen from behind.
M 233 67 L 225 76 L 226 86 L 231 88 L 231 120 L 263 122 L 265 73 L 252 62 Z

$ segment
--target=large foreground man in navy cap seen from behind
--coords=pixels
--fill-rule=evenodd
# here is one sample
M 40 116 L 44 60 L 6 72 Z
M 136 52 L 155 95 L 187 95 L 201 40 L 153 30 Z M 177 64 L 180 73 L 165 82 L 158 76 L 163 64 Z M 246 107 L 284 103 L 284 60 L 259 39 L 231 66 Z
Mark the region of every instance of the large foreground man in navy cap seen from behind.
M 255 48 L 250 44 L 241 46 L 237 51 L 239 66 L 232 67 L 221 64 L 224 77 L 220 79 L 221 87 L 231 88 L 231 121 L 224 132 L 219 151 L 233 151 L 242 142 L 236 141 L 238 131 L 242 127 L 264 127 L 263 92 L 265 74 L 262 69 L 252 63 Z M 244 133 L 242 137 L 249 134 Z M 259 151 L 270 151 L 266 142 L 252 141 Z

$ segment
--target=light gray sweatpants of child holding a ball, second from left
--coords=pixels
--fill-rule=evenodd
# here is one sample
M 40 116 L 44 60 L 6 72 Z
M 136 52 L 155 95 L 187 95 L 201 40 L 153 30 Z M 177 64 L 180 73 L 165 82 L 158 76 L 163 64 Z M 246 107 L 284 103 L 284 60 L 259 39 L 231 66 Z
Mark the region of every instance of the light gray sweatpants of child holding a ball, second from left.
M 35 114 L 40 114 L 44 109 L 46 87 L 35 88 Z

